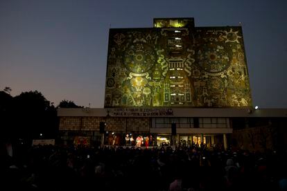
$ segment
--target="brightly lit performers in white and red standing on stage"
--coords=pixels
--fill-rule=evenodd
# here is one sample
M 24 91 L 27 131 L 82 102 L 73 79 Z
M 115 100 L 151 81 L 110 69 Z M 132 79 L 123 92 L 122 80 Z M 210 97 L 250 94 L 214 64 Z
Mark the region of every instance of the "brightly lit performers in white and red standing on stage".
M 125 146 L 148 147 L 153 145 L 153 136 L 137 136 L 134 140 L 132 134 L 125 135 Z

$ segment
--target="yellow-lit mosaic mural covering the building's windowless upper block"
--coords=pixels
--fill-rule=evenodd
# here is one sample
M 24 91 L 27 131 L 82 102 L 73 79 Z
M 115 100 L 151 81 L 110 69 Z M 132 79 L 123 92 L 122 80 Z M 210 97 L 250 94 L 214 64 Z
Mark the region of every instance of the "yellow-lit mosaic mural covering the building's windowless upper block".
M 240 26 L 155 21 L 110 29 L 105 107 L 252 106 Z

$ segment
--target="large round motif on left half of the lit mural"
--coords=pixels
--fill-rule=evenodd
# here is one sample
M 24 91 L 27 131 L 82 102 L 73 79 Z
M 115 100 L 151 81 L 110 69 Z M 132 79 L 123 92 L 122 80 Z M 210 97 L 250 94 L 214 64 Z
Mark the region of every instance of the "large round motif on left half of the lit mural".
M 124 63 L 132 73 L 145 73 L 156 63 L 156 53 L 146 43 L 134 43 L 125 51 Z

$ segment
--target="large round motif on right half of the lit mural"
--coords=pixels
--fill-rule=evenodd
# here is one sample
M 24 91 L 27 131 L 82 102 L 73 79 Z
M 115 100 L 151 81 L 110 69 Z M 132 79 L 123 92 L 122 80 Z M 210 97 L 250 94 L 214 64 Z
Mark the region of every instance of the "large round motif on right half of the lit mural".
M 229 67 L 229 56 L 223 46 L 201 46 L 197 60 L 200 68 L 208 73 L 220 73 Z

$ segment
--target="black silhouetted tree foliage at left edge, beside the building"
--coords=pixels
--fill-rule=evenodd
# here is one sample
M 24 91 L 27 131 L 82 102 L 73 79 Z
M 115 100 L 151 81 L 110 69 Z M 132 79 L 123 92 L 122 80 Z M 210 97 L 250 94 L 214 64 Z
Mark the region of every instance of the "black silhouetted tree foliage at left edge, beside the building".
M 0 91 L 3 117 L 1 138 L 55 138 L 58 131 L 57 110 L 39 91 L 26 91 L 14 98 Z

